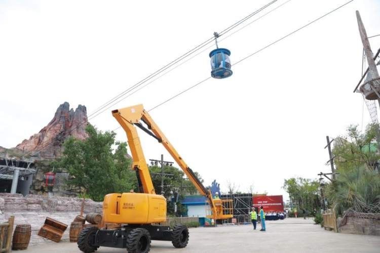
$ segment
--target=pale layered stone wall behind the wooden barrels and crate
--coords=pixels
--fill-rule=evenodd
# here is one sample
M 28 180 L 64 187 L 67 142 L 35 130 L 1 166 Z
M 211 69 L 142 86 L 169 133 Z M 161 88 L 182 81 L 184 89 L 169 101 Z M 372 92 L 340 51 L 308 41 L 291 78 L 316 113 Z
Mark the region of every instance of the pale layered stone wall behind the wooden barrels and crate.
M 18 224 L 31 225 L 29 246 L 38 243 L 55 243 L 37 235 L 45 222 L 46 217 L 68 225 L 62 240 L 68 240 L 70 223 L 75 216 L 80 215 L 83 199 L 68 197 L 43 197 L 40 195 L 0 193 L 0 223 L 5 222 L 12 215 L 15 216 L 15 227 Z M 85 200 L 84 213 L 102 213 L 102 203 L 91 199 Z

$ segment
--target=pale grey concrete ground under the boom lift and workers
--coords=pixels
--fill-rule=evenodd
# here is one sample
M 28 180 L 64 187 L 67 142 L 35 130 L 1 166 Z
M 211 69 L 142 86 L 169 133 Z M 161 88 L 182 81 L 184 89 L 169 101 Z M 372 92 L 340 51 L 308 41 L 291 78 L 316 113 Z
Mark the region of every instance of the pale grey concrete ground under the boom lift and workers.
M 252 225 L 224 225 L 215 228 L 191 228 L 187 247 L 174 248 L 171 242 L 152 241 L 150 252 L 380 252 L 380 237 L 326 231 L 312 219 L 287 218 L 267 221 L 267 231 Z M 24 252 L 80 252 L 77 243 L 45 243 Z M 126 252 L 125 249 L 100 247 L 99 253 Z

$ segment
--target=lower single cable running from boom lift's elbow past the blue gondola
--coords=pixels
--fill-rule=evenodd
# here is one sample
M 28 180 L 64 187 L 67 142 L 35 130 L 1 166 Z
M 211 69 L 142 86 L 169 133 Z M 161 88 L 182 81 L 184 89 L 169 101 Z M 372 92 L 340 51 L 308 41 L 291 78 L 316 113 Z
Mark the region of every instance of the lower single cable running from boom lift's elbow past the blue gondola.
M 335 8 L 335 9 L 333 9 L 332 11 L 330 11 L 330 12 L 328 12 L 328 13 L 326 13 L 326 14 L 320 16 L 319 18 L 317 18 L 317 19 L 315 19 L 315 20 L 313 20 L 313 21 L 307 23 L 306 25 L 303 25 L 303 26 L 299 27 L 298 29 L 296 29 L 296 30 L 294 30 L 294 31 L 292 31 L 292 32 L 290 32 L 290 33 L 288 33 L 288 34 L 286 34 L 285 36 L 283 36 L 283 37 L 281 37 L 281 38 L 279 38 L 279 39 L 273 41 L 271 44 L 269 44 L 269 45 L 267 45 L 267 46 L 265 46 L 265 47 L 263 47 L 263 48 L 257 50 L 256 52 L 254 52 L 254 53 L 252 53 L 252 54 L 249 54 L 248 56 L 246 56 L 246 57 L 240 59 L 239 61 L 237 61 L 235 64 L 232 64 L 232 65 L 234 66 L 234 65 L 237 65 L 237 64 L 241 63 L 242 61 L 248 59 L 249 57 L 252 57 L 253 55 L 255 55 L 255 54 L 257 54 L 257 53 L 263 51 L 264 49 L 267 49 L 267 48 L 271 47 L 272 45 L 278 43 L 279 41 L 283 40 L 284 38 L 286 38 L 286 37 L 288 37 L 288 36 L 290 36 L 290 35 L 296 33 L 297 31 L 299 31 L 299 30 L 301 30 L 301 29 L 303 29 L 303 28 L 305 28 L 305 27 L 307 27 L 307 26 L 313 24 L 314 22 L 316 22 L 316 21 L 318 21 L 318 20 L 320 20 L 320 19 L 326 17 L 327 15 L 329 15 L 329 14 L 331 14 L 331 13 L 333 13 L 333 12 L 339 10 L 340 8 L 342 8 L 342 7 L 344 7 L 344 6 L 348 5 L 348 4 L 350 4 L 350 3 L 353 2 L 353 1 L 354 1 L 354 0 L 350 0 L 350 1 L 346 2 L 345 4 L 343 4 L 343 5 L 341 5 L 341 6 L 337 7 L 337 8 Z M 205 82 L 206 80 L 208 80 L 208 79 L 210 79 L 210 78 L 211 78 L 211 77 L 209 76 L 208 78 L 203 79 L 202 81 L 200 81 L 200 82 L 196 83 L 195 85 L 193 85 L 193 86 L 187 88 L 186 90 L 183 90 L 182 92 L 180 92 L 180 93 L 178 93 L 178 94 L 176 94 L 176 95 L 170 97 L 169 99 L 165 100 L 164 102 L 161 102 L 160 104 L 156 105 L 155 107 L 149 109 L 148 112 L 151 111 L 151 110 L 154 110 L 154 109 L 158 108 L 159 106 L 161 106 L 161 105 L 163 105 L 163 104 L 165 104 L 165 103 L 167 103 L 167 102 L 169 102 L 170 100 L 172 100 L 172 99 L 178 97 L 179 95 L 181 95 L 181 94 L 183 94 L 183 93 L 185 93 L 185 92 L 187 92 L 187 91 L 189 91 L 189 90 L 191 90 L 191 89 L 197 87 L 198 85 L 200 85 L 201 83 Z

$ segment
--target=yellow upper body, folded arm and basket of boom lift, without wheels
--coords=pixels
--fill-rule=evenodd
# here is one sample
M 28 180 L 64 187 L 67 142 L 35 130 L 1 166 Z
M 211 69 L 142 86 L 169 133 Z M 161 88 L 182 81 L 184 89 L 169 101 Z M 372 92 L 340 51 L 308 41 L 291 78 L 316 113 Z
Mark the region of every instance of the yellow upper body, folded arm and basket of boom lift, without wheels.
M 208 199 L 213 219 L 218 220 L 233 217 L 232 207 L 230 208 L 232 200 L 220 200 L 216 201 L 218 205 L 215 204 L 211 191 L 203 186 L 202 182 L 197 178 L 192 169 L 187 166 L 183 158 L 177 153 L 142 105 L 113 110 L 112 115 L 127 134 L 128 145 L 131 149 L 133 160 L 132 170 L 137 174 L 140 193 L 112 193 L 106 195 L 103 202 L 104 222 L 150 224 L 166 220 L 166 199 L 155 192 L 136 126 L 158 140 L 170 153 L 197 190 Z

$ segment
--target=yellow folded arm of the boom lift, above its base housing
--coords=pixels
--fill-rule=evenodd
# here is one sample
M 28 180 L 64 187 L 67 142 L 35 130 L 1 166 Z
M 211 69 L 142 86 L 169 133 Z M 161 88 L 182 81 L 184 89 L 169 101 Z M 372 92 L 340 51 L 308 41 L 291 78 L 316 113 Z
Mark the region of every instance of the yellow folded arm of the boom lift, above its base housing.
M 194 184 L 197 190 L 207 198 L 210 204 L 212 218 L 215 220 L 232 218 L 232 214 L 223 215 L 221 200 L 214 200 L 212 198 L 211 191 L 203 186 L 192 169 L 187 166 L 185 161 L 170 144 L 169 140 L 165 137 L 158 125 L 150 117 L 149 113 L 144 110 L 141 104 L 119 110 L 113 110 L 112 115 L 118 120 L 124 131 L 127 133 L 128 145 L 131 149 L 133 158 L 132 169 L 136 171 L 140 192 L 156 194 L 135 126 L 143 130 L 148 135 L 154 137 L 159 143 L 164 145 L 165 149 L 178 163 L 187 178 Z M 142 123 L 144 123 L 146 127 Z M 220 205 L 219 208 L 216 207 L 215 202 L 218 202 L 218 205 Z

